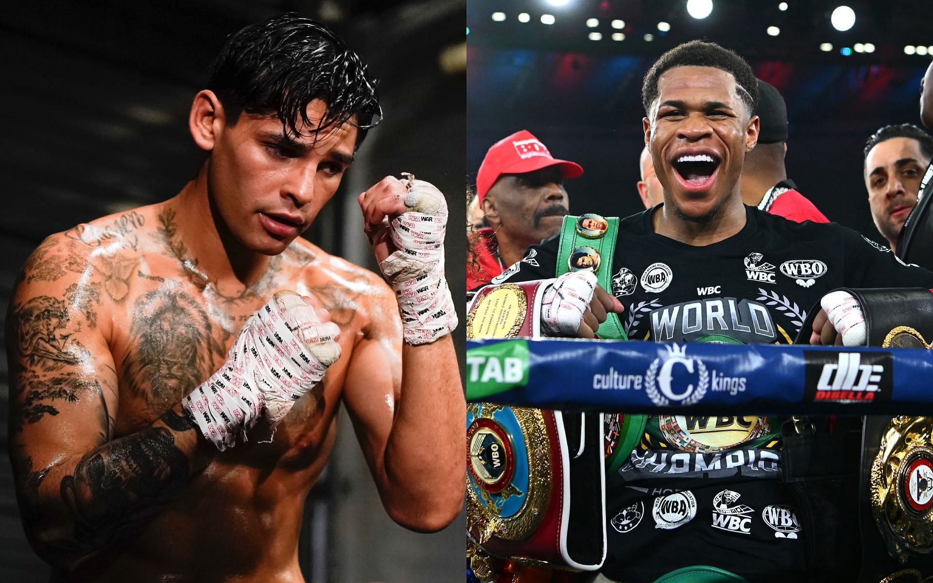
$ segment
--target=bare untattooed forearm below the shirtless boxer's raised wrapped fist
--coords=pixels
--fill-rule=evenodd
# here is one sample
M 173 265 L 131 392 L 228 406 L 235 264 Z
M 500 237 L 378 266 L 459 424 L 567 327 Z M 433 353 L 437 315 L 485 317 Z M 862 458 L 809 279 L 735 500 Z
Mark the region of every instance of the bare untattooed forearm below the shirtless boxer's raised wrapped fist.
M 383 504 L 413 530 L 447 526 L 463 506 L 466 401 L 451 336 L 402 349 L 402 391 L 384 454 Z

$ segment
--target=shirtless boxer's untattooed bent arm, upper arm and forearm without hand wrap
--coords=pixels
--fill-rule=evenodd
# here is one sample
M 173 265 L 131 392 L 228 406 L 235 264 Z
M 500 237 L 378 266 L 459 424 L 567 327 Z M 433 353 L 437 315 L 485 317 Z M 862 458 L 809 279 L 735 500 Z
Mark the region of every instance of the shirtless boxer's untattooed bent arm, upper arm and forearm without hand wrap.
M 403 344 L 396 299 L 377 285 L 376 315 L 351 355 L 344 403 L 386 512 L 411 530 L 435 532 L 456 518 L 464 496 L 466 402 L 453 340 Z

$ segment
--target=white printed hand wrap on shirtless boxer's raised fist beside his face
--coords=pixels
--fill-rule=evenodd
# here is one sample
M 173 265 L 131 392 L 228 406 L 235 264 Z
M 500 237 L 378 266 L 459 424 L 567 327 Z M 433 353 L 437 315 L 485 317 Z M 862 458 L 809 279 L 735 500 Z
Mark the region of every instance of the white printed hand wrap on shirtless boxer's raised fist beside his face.
M 412 345 L 438 340 L 457 327 L 451 290 L 444 277 L 444 230 L 447 201 L 424 180 L 408 176 L 404 214 L 389 222 L 397 251 L 380 264 L 401 311 L 405 341 Z

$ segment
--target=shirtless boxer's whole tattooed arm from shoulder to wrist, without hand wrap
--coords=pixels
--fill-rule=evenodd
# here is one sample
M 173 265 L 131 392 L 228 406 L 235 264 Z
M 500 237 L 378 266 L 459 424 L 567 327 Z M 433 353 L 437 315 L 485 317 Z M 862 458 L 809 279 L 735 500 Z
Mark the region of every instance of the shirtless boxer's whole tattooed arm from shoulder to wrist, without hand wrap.
M 132 532 L 216 453 L 180 406 L 112 438 L 112 320 L 89 251 L 49 237 L 27 261 L 7 314 L 10 457 L 23 523 L 39 555 L 65 568 Z

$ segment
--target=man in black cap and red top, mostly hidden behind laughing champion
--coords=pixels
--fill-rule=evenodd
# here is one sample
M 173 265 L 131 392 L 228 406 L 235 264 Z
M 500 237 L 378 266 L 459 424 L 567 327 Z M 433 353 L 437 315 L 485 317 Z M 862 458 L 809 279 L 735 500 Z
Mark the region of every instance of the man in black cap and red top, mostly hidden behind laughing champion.
M 828 223 L 814 203 L 797 191 L 787 178 L 784 157 L 787 154 L 787 104 L 773 86 L 761 79 L 759 105 L 755 112 L 760 119 L 759 141 L 745 155 L 742 169 L 742 201 L 749 206 L 792 221 Z

